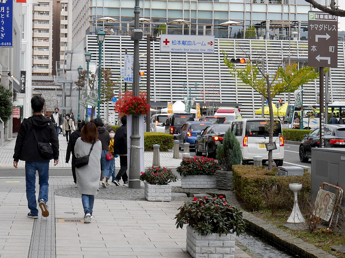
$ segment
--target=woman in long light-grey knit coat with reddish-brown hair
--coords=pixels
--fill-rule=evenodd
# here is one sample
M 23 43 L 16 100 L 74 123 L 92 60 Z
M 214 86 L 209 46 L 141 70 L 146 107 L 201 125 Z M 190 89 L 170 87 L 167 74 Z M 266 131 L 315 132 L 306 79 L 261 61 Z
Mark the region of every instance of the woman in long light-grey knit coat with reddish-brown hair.
M 92 147 L 93 144 L 93 147 Z M 90 152 L 90 149 L 92 150 Z M 76 168 L 78 190 L 81 193 L 81 202 L 84 207 L 84 223 L 91 222 L 93 202 L 98 193 L 99 174 L 101 172 L 102 144 L 98 140 L 98 131 L 93 123 L 86 123 L 81 130 L 81 137 L 77 139 L 74 147 L 76 158 L 84 157 L 90 152 L 89 163 Z

